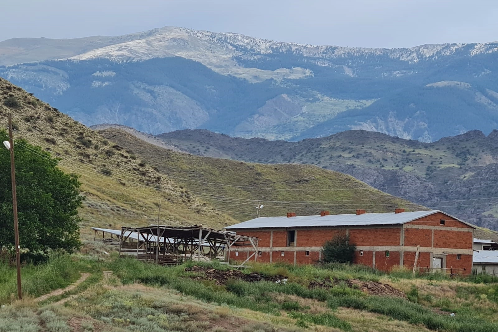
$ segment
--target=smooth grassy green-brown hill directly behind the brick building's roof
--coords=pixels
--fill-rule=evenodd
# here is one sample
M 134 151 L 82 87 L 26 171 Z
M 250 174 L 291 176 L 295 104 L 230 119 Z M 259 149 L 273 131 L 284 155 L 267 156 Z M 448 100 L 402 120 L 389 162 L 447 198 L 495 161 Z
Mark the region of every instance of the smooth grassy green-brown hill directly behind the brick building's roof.
M 316 166 L 297 164 L 264 165 L 206 158 L 166 150 L 136 139 L 121 129 L 99 132 L 147 164 L 172 177 L 175 182 L 211 202 L 239 220 L 255 216 L 260 201 L 262 215 L 353 213 L 357 208 L 372 212 L 395 207 L 421 209 L 392 197 L 352 176 Z

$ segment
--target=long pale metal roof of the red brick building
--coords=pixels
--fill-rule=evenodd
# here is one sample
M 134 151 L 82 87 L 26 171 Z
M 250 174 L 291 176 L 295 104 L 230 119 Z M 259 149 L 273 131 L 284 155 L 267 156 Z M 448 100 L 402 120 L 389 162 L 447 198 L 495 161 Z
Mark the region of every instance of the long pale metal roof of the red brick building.
M 227 226 L 226 229 L 247 228 L 289 228 L 289 227 L 330 227 L 330 226 L 370 226 L 370 225 L 400 225 L 428 215 L 442 212 L 441 210 L 415 211 L 415 212 L 387 212 L 387 213 L 363 213 L 363 214 L 329 214 L 305 215 L 294 217 L 259 217 L 244 221 L 235 225 Z M 445 212 L 442 212 L 445 213 Z M 449 214 L 445 213 L 450 216 Z M 473 228 L 475 226 L 461 221 Z

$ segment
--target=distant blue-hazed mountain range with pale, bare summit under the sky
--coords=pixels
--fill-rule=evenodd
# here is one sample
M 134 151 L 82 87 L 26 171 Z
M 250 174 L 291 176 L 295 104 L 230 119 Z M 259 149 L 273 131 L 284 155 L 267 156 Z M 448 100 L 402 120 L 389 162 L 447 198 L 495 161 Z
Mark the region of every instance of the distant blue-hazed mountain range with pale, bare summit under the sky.
M 498 42 L 374 49 L 163 27 L 0 42 L 0 76 L 85 125 L 433 142 L 497 128 Z

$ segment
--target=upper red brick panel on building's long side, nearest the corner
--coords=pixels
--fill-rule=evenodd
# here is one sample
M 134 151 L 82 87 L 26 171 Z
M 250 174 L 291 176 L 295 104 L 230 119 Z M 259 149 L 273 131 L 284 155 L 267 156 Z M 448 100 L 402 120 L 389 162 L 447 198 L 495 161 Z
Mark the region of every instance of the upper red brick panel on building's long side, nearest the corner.
M 349 239 L 357 246 L 398 246 L 401 226 L 396 228 L 350 228 Z

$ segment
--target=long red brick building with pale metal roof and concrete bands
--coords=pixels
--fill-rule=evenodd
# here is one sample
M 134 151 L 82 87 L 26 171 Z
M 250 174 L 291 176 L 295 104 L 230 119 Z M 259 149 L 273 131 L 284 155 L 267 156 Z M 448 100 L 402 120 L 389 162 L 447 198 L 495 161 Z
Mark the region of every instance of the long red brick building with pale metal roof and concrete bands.
M 321 247 L 335 235 L 349 235 L 357 246 L 354 263 L 388 271 L 394 266 L 412 269 L 417 247 L 420 269 L 453 269 L 471 273 L 475 227 L 442 211 L 329 214 L 259 217 L 226 227 L 258 241 L 258 262 L 309 264 L 321 260 Z M 250 249 L 230 252 L 244 261 Z

